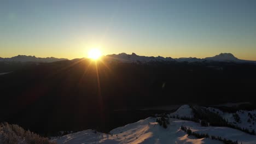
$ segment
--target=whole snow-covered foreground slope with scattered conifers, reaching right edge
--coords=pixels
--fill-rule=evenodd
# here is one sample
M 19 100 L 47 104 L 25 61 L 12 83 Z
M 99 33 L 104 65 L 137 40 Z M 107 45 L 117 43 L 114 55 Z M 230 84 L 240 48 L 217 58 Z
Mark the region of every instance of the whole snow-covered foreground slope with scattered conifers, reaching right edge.
M 193 116 L 188 105 L 181 106 L 171 115 Z M 188 136 L 181 126 L 190 128 L 196 133 L 221 136 L 238 143 L 256 143 L 256 136 L 243 131 L 227 127 L 202 127 L 200 123 L 170 118 L 170 124 L 165 129 L 156 122 L 156 118 L 149 117 L 136 123 L 127 124 L 110 131 L 110 134 L 99 133 L 94 130 L 84 130 L 53 139 L 57 143 L 223 143 L 209 138 L 196 139 Z

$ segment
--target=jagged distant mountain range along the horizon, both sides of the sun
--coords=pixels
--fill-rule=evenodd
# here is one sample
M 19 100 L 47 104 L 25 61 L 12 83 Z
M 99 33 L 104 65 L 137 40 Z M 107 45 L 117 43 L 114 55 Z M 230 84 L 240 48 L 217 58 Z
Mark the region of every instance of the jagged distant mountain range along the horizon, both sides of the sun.
M 233 62 L 233 63 L 256 63 L 256 61 L 247 61 L 243 59 L 238 59 L 232 53 L 220 53 L 219 55 L 206 58 L 196 58 L 196 57 L 182 57 L 182 58 L 171 58 L 171 57 L 148 57 L 148 56 L 138 56 L 136 53 L 131 55 L 126 53 L 119 53 L 118 55 L 107 55 L 103 56 L 102 59 L 107 61 L 118 61 L 125 63 L 148 63 L 148 62 Z M 0 61 L 4 62 L 40 62 L 40 63 L 50 63 L 57 61 L 65 61 L 67 58 L 55 58 L 55 57 L 46 57 L 40 58 L 35 56 L 25 56 L 18 55 L 11 58 L 1 58 Z

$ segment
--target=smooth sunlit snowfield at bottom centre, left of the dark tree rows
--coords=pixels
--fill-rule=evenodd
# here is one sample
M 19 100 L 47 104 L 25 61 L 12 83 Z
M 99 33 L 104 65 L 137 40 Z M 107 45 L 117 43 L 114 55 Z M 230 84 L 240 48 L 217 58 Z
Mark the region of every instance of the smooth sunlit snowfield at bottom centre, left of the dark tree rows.
M 195 139 L 180 129 L 181 125 L 193 126 L 193 122 L 170 119 L 171 123 L 165 129 L 155 122 L 155 118 L 147 118 L 136 123 L 110 131 L 110 134 L 96 133 L 93 130 L 68 134 L 57 143 L 221 143 L 211 139 Z

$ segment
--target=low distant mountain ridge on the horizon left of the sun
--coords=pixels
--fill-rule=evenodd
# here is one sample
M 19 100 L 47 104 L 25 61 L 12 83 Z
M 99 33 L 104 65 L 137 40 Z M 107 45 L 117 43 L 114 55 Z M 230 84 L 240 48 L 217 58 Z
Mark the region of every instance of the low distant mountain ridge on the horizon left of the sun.
M 11 58 L 1 58 L 0 61 L 5 62 L 40 62 L 40 63 L 51 63 L 51 62 L 57 62 L 57 61 L 64 61 L 68 60 L 67 58 L 55 58 L 55 57 L 46 57 L 46 58 L 40 58 L 35 56 L 25 56 L 25 55 L 18 55 Z

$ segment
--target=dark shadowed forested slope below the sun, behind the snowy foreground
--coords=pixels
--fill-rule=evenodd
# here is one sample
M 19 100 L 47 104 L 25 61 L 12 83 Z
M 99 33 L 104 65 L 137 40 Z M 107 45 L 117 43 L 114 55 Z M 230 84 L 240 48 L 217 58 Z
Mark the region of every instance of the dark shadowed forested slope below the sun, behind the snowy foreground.
M 28 64 L 0 76 L 0 120 L 34 131 L 109 129 L 118 109 L 255 101 L 256 66 L 119 63 Z

